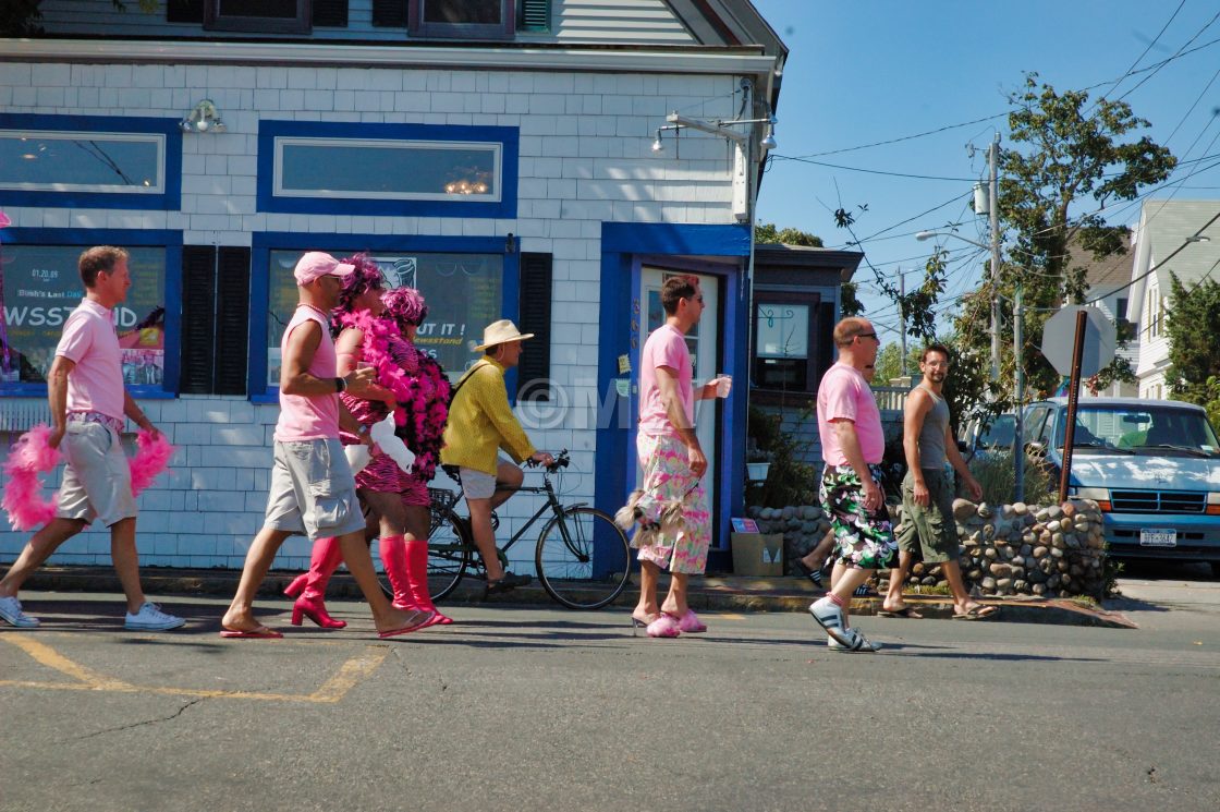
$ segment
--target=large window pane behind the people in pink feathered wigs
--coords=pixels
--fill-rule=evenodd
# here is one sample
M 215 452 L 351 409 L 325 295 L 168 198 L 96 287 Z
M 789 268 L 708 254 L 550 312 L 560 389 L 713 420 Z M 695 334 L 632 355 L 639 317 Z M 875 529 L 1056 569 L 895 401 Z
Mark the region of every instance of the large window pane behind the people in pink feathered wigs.
M 331 253 L 350 256 L 356 252 Z M 279 386 L 279 342 L 296 309 L 293 267 L 300 255 L 298 250 L 271 252 L 267 386 Z M 423 294 L 428 320 L 420 326 L 415 343 L 458 380 L 479 358 L 470 350 L 471 339 L 481 343 L 483 327 L 501 317 L 504 256 L 378 252 L 373 259 L 382 266 L 388 288 L 414 287 Z

